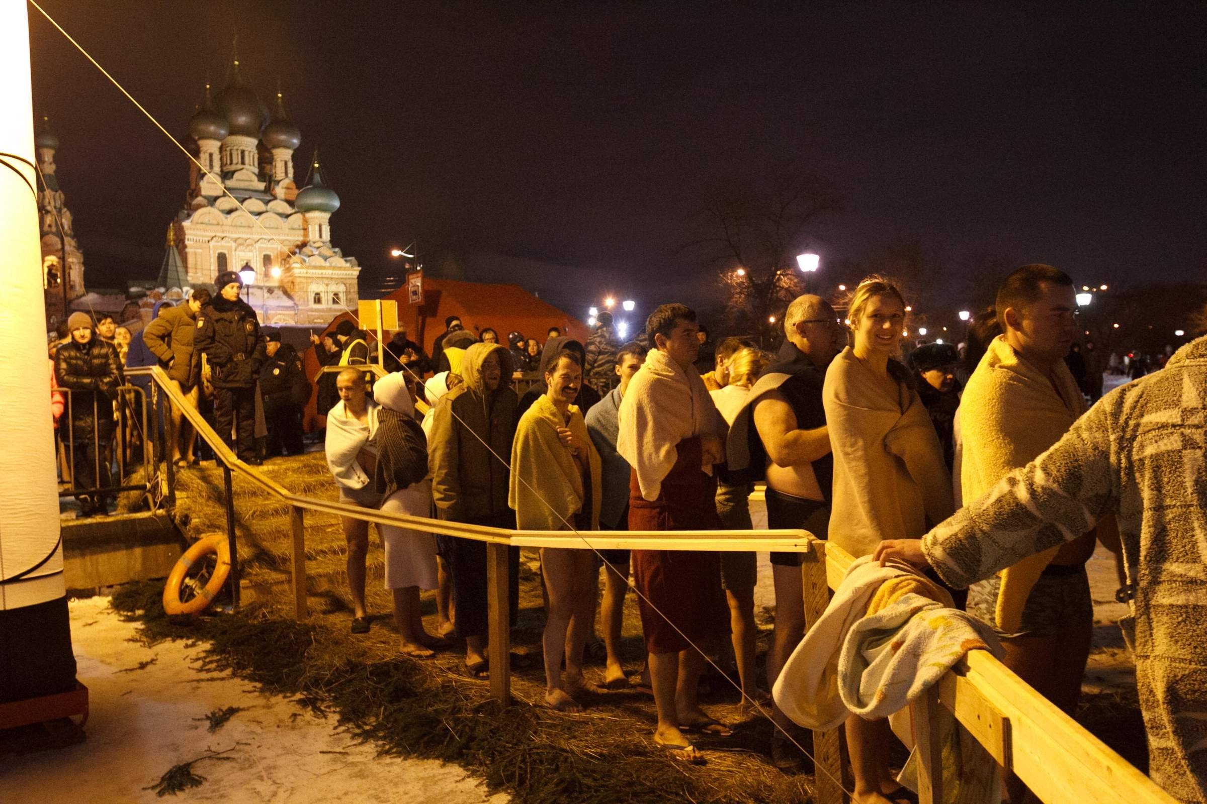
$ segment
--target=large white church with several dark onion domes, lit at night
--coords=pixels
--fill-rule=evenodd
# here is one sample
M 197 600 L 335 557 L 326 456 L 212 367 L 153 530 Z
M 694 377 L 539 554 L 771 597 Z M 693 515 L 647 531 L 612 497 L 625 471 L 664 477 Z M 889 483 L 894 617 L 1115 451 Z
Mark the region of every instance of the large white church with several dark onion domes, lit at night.
M 356 310 L 355 258 L 331 245 L 339 196 L 322 180 L 317 152 L 297 188 L 302 133 L 281 93 L 272 112 L 234 60 L 226 88 L 188 122 L 193 157 L 185 209 L 171 222 L 158 284 L 186 291 L 222 271 L 252 277 L 245 298 L 263 323 L 327 323 Z M 204 168 L 204 170 L 202 170 Z M 233 196 L 233 198 L 232 198 Z

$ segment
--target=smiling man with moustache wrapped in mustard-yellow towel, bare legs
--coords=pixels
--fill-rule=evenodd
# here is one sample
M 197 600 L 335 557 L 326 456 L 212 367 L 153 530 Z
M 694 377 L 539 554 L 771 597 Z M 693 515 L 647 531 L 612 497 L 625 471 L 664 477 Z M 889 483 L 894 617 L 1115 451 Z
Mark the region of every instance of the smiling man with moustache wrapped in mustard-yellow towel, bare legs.
M 524 412 L 515 430 L 508 505 L 524 530 L 597 530 L 604 491 L 600 456 L 582 411 L 571 404 L 583 383 L 578 352 L 560 352 L 547 363 L 543 378 L 547 391 Z M 583 680 L 583 646 L 595 616 L 597 575 L 594 551 L 582 547 L 541 548 L 549 594 L 544 700 L 562 711 L 582 708 L 572 692 L 590 691 Z

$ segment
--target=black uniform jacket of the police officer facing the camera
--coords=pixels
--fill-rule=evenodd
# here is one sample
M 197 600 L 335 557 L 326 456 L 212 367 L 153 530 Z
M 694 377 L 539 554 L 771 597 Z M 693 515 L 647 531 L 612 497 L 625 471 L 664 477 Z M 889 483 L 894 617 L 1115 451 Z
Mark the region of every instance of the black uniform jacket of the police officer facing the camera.
M 267 353 L 256 311 L 243 299 L 215 298 L 197 313 L 193 346 L 205 354 L 215 388 L 252 388 Z

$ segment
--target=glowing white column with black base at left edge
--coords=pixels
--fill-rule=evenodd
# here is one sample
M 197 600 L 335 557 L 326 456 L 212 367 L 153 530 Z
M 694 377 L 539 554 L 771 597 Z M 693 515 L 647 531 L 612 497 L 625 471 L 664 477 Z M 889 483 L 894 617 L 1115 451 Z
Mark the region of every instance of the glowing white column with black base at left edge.
M 71 689 L 42 299 L 29 22 L 0 0 L 0 703 Z

